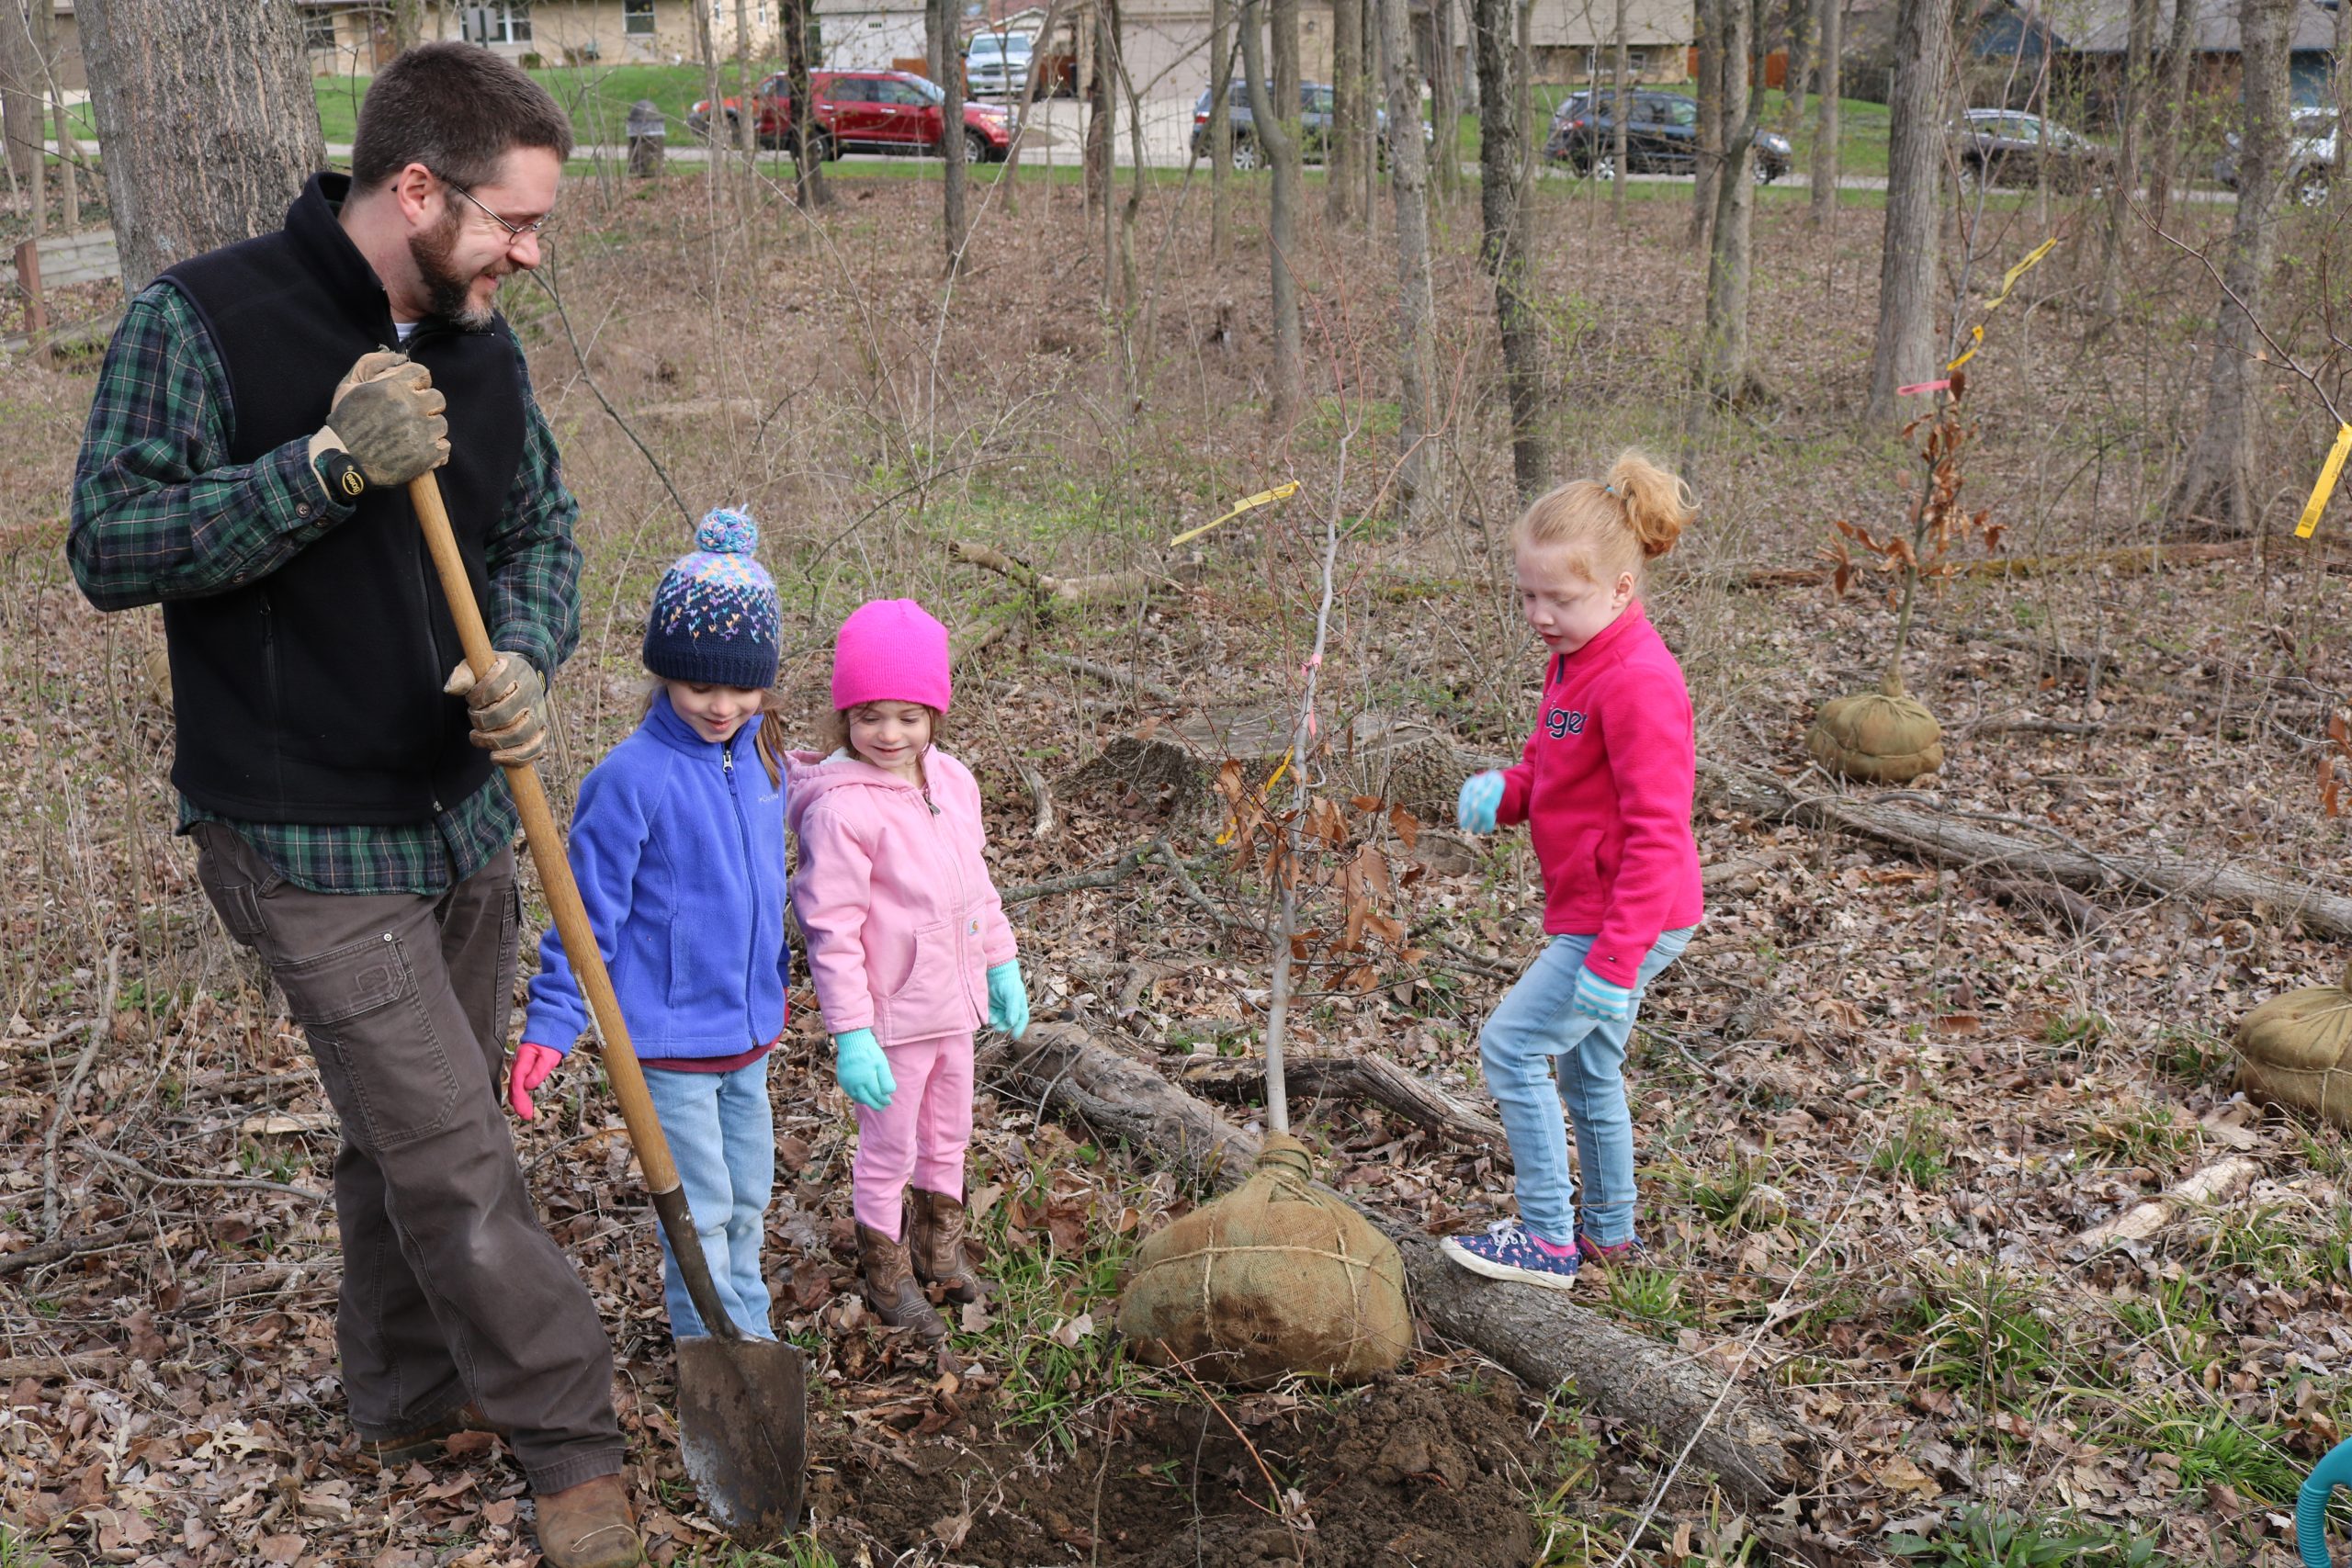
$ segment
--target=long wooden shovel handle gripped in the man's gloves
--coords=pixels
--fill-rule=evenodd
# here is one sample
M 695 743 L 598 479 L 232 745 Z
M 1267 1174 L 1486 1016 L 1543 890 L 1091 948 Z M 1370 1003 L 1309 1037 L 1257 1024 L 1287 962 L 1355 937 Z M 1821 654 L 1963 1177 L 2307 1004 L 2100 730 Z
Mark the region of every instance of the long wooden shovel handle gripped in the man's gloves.
M 442 505 L 440 480 L 430 470 L 409 480 L 409 505 L 416 508 L 416 522 L 426 529 L 426 545 L 433 550 L 449 616 L 466 646 L 466 663 L 480 679 L 489 675 L 499 651 L 489 646 L 489 628 L 482 623 L 482 607 L 475 604 L 466 557 L 459 555 L 449 508 Z M 595 1013 L 597 1037 L 604 1044 L 604 1077 L 612 1079 L 612 1093 L 621 1100 L 621 1121 L 628 1124 L 628 1140 L 637 1145 L 637 1164 L 644 1166 L 644 1185 L 652 1192 L 654 1213 L 661 1215 L 661 1229 L 670 1237 L 670 1253 L 677 1255 L 687 1293 L 713 1335 L 741 1338 L 710 1281 L 710 1265 L 703 1260 L 701 1237 L 694 1234 L 694 1220 L 677 1182 L 677 1164 L 670 1159 L 670 1140 L 661 1133 L 661 1117 L 654 1114 L 654 1100 L 644 1091 L 644 1070 L 637 1065 L 635 1046 L 628 1044 L 628 1020 L 621 1018 L 621 1001 L 612 992 L 604 950 L 597 947 L 595 931 L 588 926 L 588 907 L 572 879 L 572 860 L 564 858 L 564 839 L 555 830 L 555 813 L 548 811 L 546 785 L 539 783 L 539 771 L 529 762 L 508 764 L 506 785 L 515 792 L 522 837 L 532 846 L 532 865 L 539 867 L 548 912 L 555 914 L 555 929 L 564 938 L 564 957 L 572 959 L 572 973 Z

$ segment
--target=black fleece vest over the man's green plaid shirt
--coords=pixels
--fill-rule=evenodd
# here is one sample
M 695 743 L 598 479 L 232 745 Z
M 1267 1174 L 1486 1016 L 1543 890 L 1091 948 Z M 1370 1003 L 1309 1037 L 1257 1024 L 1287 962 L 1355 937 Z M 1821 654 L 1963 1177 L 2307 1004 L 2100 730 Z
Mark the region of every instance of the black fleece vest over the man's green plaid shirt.
M 336 223 L 348 186 L 343 174 L 315 174 L 275 235 L 162 275 L 228 367 L 235 463 L 308 442 L 350 362 L 397 343 L 383 284 Z M 452 454 L 437 477 L 487 614 L 482 541 L 522 461 L 515 346 L 503 320 L 482 331 L 428 320 L 407 353 L 449 400 Z M 489 759 L 466 738 L 466 705 L 442 696 L 463 649 L 405 487 L 372 489 L 278 571 L 169 602 L 162 616 L 172 783 L 207 811 L 249 823 L 423 823 L 489 778 Z

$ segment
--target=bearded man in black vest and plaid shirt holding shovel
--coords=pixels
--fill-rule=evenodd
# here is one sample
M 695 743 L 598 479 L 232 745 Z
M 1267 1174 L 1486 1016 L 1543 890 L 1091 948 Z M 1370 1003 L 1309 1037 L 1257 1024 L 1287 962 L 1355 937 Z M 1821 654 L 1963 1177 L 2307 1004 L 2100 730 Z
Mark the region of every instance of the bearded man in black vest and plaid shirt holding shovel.
M 517 898 L 492 762 L 543 745 L 581 557 L 494 296 L 539 266 L 569 150 L 555 101 L 487 49 L 386 66 L 348 179 L 313 176 L 280 233 L 132 301 L 68 555 L 92 604 L 165 607 L 181 832 L 341 1119 L 353 1425 L 395 1465 L 503 1432 L 546 1561 L 619 1568 L 640 1540 L 612 1347 L 496 1098 Z M 480 684 L 407 501 L 435 470 L 501 649 Z

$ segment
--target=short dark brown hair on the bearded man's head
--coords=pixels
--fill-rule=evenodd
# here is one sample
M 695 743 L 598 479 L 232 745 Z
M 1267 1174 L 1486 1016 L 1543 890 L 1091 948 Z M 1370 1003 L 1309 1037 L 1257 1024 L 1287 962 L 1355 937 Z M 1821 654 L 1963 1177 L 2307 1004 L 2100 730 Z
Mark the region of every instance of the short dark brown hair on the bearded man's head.
M 515 148 L 572 155 L 572 120 L 548 89 L 480 45 L 416 45 L 360 99 L 350 183 L 372 190 L 421 162 L 470 190 L 494 183 Z

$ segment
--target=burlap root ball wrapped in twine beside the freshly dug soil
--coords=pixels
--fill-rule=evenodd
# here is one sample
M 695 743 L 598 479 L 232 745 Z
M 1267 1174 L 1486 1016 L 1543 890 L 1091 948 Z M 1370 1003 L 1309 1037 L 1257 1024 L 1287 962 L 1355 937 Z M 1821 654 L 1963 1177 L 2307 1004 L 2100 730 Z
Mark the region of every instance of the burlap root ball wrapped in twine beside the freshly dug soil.
M 1141 1359 L 1230 1385 L 1397 1366 L 1414 1342 L 1404 1258 L 1312 1178 L 1305 1145 L 1270 1133 L 1247 1182 L 1136 1248 L 1120 1333 Z

